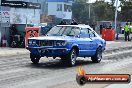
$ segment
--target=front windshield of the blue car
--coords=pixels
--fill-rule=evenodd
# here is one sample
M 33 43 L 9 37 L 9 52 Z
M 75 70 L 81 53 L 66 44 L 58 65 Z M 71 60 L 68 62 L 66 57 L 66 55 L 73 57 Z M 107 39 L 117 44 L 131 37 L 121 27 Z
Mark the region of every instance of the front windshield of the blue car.
M 53 27 L 47 35 L 55 36 L 77 36 L 80 34 L 80 29 L 78 27 L 68 27 L 68 26 L 55 26 Z

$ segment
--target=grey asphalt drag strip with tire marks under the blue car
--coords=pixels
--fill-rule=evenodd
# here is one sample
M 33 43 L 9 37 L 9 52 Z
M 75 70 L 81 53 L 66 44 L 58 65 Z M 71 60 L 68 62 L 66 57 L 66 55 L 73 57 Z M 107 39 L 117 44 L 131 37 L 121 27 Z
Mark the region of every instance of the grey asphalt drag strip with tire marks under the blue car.
M 110 44 L 112 43 L 108 44 L 101 63 L 92 63 L 90 58 L 78 58 L 75 67 L 65 66 L 59 58 L 54 60 L 44 57 L 38 65 L 34 65 L 29 54 L 1 57 L 0 88 L 79 88 L 75 81 L 79 66 L 83 66 L 90 74 L 132 74 L 129 69 L 132 67 L 132 47 L 111 49 Z M 119 85 L 111 84 L 90 84 L 82 87 L 115 88 L 115 86 L 121 88 Z

